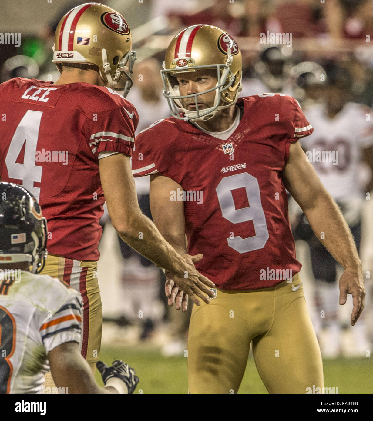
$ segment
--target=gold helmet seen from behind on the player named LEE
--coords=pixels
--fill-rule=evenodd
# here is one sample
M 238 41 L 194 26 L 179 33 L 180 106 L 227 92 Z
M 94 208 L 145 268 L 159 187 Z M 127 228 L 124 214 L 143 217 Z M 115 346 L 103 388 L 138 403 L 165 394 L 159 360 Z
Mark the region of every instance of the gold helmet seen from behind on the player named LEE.
M 68 11 L 57 26 L 53 51 L 59 72 L 60 63 L 95 64 L 110 88 L 128 94 L 136 53 L 128 24 L 114 9 L 85 3 Z

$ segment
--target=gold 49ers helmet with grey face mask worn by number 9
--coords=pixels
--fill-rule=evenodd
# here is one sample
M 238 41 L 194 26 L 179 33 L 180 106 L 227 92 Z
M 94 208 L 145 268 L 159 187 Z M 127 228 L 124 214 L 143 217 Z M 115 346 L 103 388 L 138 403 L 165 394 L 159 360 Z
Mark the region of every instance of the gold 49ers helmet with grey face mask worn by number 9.
M 207 120 L 218 110 L 235 104 L 242 90 L 241 51 L 230 35 L 211 25 L 193 25 L 179 32 L 167 48 L 163 68 L 163 94 L 172 115 L 180 120 Z M 180 96 L 176 75 L 198 69 L 216 69 L 215 87 Z M 214 106 L 199 110 L 197 96 L 214 90 Z M 196 111 L 183 107 L 184 98 L 195 99 Z

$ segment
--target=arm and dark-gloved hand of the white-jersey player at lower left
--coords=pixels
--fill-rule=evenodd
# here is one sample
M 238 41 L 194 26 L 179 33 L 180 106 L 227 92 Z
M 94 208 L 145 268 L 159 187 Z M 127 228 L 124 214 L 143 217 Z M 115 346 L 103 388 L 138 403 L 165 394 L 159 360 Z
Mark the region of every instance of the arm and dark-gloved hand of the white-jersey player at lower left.
M 105 387 L 99 387 L 94 379 L 88 362 L 79 352 L 79 344 L 65 342 L 48 352 L 49 365 L 53 380 L 57 387 L 68 388 L 69 393 L 132 393 L 138 378 L 128 387 L 118 376 L 112 376 L 105 381 Z M 104 363 L 100 362 L 105 366 Z M 124 363 L 122 362 L 124 365 Z M 107 368 L 107 366 L 105 366 Z M 102 370 L 100 370 L 102 373 Z M 110 385 L 111 384 L 111 385 Z

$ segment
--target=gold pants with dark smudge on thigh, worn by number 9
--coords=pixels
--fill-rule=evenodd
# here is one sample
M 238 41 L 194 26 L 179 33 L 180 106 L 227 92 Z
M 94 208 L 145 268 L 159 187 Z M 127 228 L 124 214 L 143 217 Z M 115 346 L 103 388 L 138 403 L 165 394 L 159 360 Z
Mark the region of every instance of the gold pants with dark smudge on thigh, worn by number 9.
M 292 283 L 250 291 L 217 290 L 193 306 L 188 337 L 190 393 L 237 393 L 252 344 L 269 393 L 323 387 L 322 360 L 299 274 Z

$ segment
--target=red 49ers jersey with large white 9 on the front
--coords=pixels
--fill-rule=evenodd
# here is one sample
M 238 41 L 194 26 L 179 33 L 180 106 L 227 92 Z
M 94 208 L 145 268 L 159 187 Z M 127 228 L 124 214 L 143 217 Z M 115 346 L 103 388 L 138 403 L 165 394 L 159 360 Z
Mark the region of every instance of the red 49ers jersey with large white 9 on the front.
M 135 140 L 132 172 L 180 184 L 170 200 L 184 200 L 188 252 L 204 255 L 197 269 L 218 288 L 252 290 L 301 269 L 281 174 L 290 143 L 313 128 L 290 96 L 249 96 L 237 105 L 242 118 L 225 141 L 174 117 L 154 123 Z

